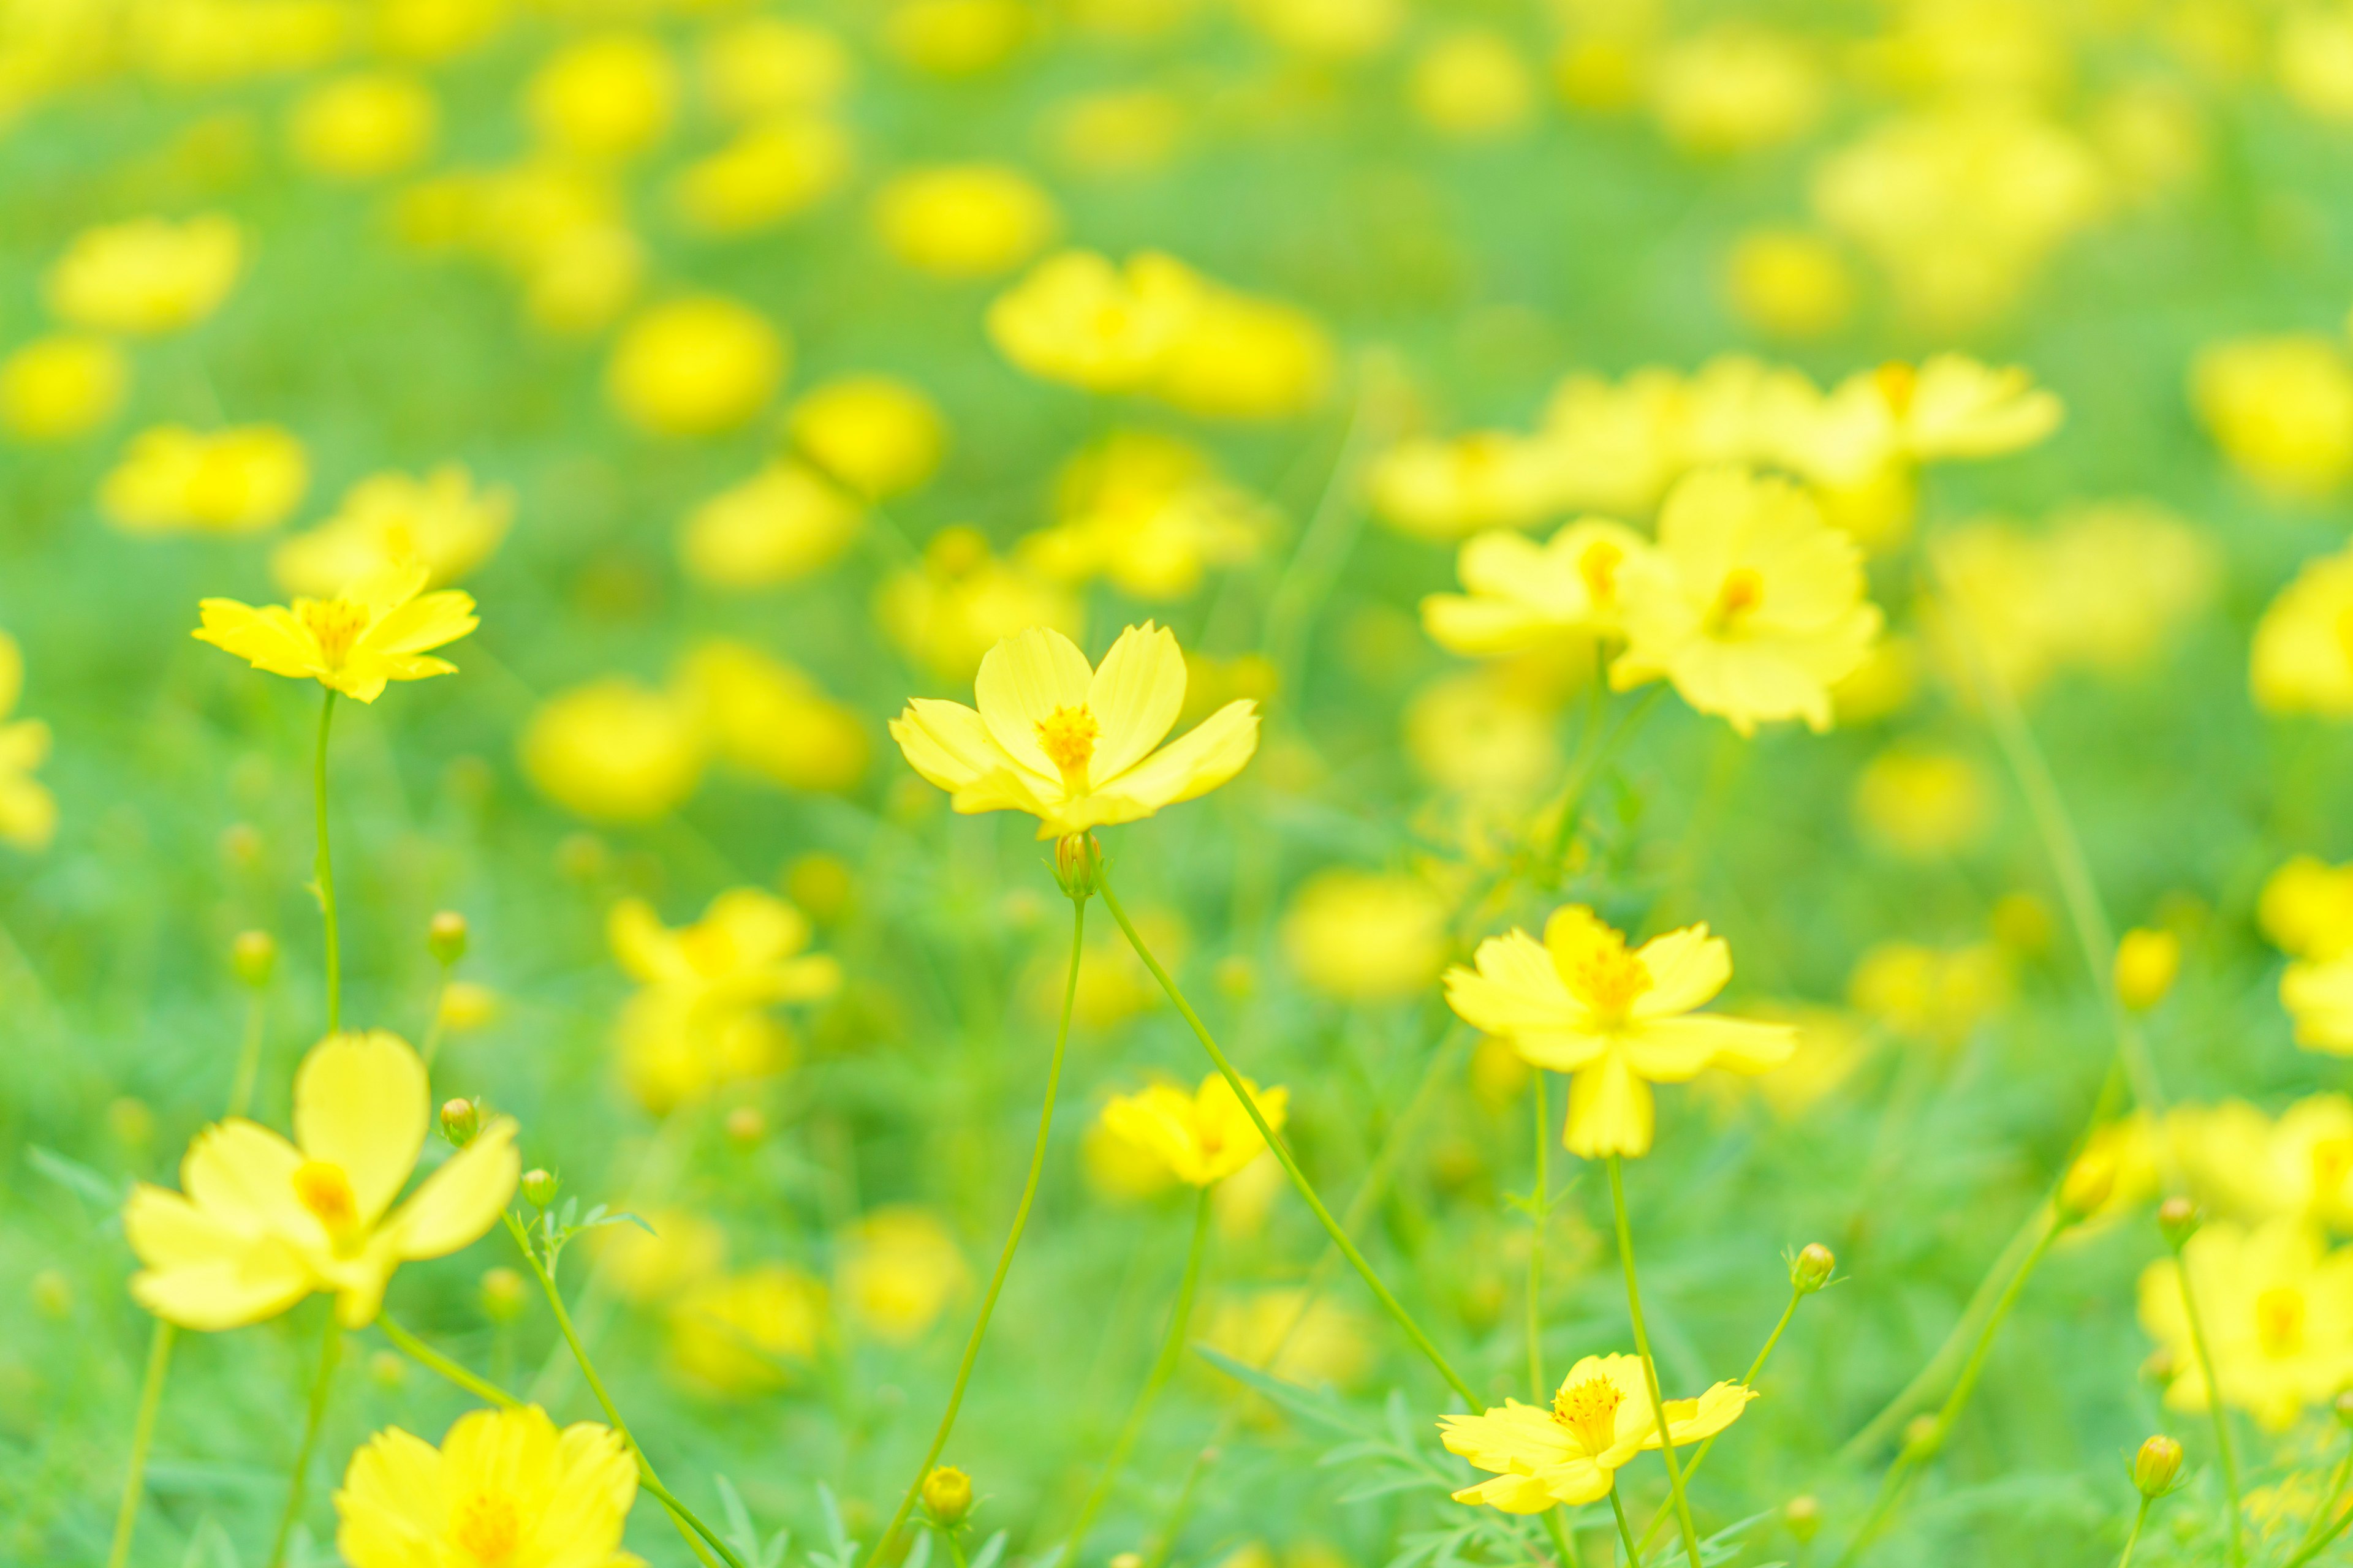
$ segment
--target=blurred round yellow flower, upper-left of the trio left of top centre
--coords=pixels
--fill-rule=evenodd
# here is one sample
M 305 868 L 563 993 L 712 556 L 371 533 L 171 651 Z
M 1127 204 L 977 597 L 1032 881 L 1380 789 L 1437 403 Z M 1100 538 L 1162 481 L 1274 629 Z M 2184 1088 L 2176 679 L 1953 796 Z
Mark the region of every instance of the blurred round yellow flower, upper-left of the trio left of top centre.
M 718 435 L 748 423 L 784 381 L 786 336 L 751 306 L 715 294 L 638 315 L 605 367 L 605 393 L 652 435 Z

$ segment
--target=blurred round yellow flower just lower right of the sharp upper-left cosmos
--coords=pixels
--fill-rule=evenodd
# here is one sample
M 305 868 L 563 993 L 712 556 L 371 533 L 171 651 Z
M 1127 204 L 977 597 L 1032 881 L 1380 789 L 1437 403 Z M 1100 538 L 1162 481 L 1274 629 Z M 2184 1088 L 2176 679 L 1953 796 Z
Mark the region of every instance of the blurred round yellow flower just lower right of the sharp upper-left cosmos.
M 619 675 L 544 701 L 518 750 L 532 788 L 598 823 L 668 816 L 704 778 L 692 703 Z

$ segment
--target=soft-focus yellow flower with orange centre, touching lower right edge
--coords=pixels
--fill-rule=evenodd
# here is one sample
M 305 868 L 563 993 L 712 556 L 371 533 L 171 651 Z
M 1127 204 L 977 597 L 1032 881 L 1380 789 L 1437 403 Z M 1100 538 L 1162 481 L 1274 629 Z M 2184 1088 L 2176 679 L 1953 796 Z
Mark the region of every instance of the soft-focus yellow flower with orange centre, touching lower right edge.
M 2165 1403 L 2205 1410 L 2214 1396 L 2191 1340 L 2181 1276 L 2214 1354 L 2221 1401 L 2278 1432 L 2353 1382 L 2353 1248 L 2322 1253 L 2299 1220 L 2242 1229 L 2214 1220 L 2141 1272 L 2141 1326 L 2172 1352 Z

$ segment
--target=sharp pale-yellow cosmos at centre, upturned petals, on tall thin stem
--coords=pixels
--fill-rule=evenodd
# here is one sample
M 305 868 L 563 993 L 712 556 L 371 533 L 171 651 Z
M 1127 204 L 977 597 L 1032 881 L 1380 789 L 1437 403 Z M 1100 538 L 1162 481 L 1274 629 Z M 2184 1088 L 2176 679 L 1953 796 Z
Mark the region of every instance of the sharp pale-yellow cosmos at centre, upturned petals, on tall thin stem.
M 1134 823 L 1242 771 L 1259 748 L 1249 698 L 1160 748 L 1184 679 L 1176 635 L 1151 621 L 1120 632 L 1099 670 L 1061 632 L 1031 628 L 981 658 L 979 710 L 915 698 L 889 733 L 958 811 L 1028 811 L 1040 839 L 1059 839 Z

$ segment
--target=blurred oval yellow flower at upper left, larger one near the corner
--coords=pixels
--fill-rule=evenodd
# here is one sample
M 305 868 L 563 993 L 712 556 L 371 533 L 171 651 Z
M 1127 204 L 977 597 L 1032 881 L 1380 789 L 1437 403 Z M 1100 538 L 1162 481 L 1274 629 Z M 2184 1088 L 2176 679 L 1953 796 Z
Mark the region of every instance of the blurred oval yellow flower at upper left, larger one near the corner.
M 56 266 L 45 294 L 49 310 L 92 331 L 176 331 L 228 299 L 245 242 L 219 214 L 174 223 L 134 219 L 87 228 Z

